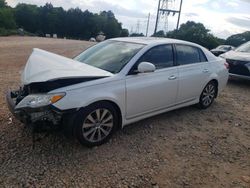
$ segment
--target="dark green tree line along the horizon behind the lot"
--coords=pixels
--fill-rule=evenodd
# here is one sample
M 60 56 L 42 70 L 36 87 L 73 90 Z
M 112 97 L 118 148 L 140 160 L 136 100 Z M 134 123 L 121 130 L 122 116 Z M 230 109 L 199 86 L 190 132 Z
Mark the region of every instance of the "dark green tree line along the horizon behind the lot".
M 48 33 L 85 40 L 95 37 L 101 31 L 107 38 L 129 36 L 128 30 L 122 28 L 112 11 L 96 14 L 79 8 L 64 10 L 62 7 L 53 7 L 51 3 L 44 6 L 21 3 L 12 8 L 5 0 L 0 0 L 0 36 L 16 34 L 17 28 L 36 36 Z M 144 35 L 131 33 L 130 36 Z M 188 21 L 178 30 L 168 33 L 158 31 L 152 36 L 187 40 L 212 49 L 221 44 L 237 47 L 250 40 L 250 31 L 232 35 L 225 40 L 215 37 L 202 23 Z

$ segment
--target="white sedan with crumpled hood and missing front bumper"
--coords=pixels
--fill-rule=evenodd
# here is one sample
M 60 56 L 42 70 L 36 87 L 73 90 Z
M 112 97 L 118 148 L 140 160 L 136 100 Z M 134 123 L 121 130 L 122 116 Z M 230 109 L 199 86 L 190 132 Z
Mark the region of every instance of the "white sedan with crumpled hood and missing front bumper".
M 22 122 L 59 125 L 96 146 L 141 119 L 193 104 L 208 108 L 226 86 L 227 68 L 205 48 L 173 39 L 110 39 L 74 59 L 34 49 L 21 89 L 7 101 Z

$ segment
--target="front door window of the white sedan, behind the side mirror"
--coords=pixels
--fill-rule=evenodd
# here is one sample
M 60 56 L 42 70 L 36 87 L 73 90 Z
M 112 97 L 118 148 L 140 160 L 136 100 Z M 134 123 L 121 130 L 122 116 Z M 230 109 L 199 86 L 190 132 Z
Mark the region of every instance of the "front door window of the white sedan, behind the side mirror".
M 150 62 L 156 69 L 172 67 L 174 65 L 172 45 L 160 45 L 147 51 L 139 62 Z

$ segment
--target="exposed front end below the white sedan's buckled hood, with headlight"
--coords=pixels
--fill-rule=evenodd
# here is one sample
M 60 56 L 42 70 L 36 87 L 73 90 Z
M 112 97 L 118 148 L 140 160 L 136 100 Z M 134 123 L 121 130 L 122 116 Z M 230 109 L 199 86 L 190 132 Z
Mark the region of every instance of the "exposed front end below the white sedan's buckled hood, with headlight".
M 9 91 L 6 100 L 12 114 L 24 124 L 50 122 L 58 125 L 65 114 L 71 114 L 76 109 L 66 111 L 57 109 L 53 103 L 63 98 L 65 93 L 50 94 L 50 91 L 101 78 L 103 77 L 64 78 L 30 83 L 20 87 L 19 90 Z

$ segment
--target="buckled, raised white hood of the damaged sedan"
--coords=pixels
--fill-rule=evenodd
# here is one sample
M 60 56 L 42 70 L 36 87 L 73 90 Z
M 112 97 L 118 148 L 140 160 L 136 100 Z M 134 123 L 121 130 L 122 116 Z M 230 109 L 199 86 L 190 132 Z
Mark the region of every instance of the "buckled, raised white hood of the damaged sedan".
M 27 85 L 67 78 L 98 78 L 112 75 L 108 71 L 85 63 L 34 48 L 22 73 L 22 84 Z

